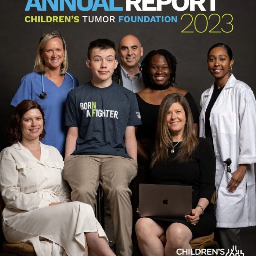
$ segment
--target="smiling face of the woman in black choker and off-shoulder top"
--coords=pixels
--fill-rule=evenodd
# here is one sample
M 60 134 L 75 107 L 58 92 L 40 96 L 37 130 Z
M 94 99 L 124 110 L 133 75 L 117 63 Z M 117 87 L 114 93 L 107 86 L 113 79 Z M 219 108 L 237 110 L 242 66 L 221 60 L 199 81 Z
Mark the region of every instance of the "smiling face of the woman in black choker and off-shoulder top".
M 148 72 L 152 84 L 161 86 L 169 83 L 171 71 L 163 55 L 156 54 L 152 57 Z

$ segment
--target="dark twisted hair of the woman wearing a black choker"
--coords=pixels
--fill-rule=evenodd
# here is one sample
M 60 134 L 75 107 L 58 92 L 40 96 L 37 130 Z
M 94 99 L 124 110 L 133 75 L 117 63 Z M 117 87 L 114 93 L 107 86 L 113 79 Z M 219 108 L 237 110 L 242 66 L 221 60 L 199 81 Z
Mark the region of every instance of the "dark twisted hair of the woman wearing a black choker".
M 146 88 L 149 87 L 151 84 L 151 80 L 150 80 L 149 73 L 148 73 L 150 61 L 151 61 L 152 57 L 157 54 L 164 56 L 165 60 L 168 63 L 169 69 L 172 71 L 170 74 L 170 79 L 169 79 L 170 84 L 172 84 L 172 83 L 176 84 L 175 78 L 176 78 L 177 60 L 176 60 L 175 56 L 172 55 L 171 52 L 169 52 L 165 49 L 159 49 L 159 50 L 153 50 L 153 51 L 149 52 L 141 62 L 140 70 L 141 70 L 143 82 L 144 82 Z

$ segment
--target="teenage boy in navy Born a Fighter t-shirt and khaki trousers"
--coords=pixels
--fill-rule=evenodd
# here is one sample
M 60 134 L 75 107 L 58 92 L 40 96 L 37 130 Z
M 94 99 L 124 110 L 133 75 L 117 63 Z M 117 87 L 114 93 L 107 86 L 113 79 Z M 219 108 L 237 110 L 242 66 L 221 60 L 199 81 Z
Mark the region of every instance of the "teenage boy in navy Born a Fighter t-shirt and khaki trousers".
M 109 200 L 117 255 L 132 255 L 129 183 L 137 174 L 134 126 L 141 124 L 135 94 L 112 82 L 115 45 L 98 39 L 88 48 L 92 80 L 68 93 L 63 177 L 73 201 L 94 207 L 99 182 Z M 99 181 L 100 180 L 100 181 Z

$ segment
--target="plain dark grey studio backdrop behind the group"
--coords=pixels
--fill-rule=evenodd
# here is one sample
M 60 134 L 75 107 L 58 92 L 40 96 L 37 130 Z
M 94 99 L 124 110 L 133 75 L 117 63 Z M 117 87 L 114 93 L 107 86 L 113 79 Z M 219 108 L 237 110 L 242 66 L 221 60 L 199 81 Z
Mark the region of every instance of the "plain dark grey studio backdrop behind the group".
M 86 5 L 87 1 L 84 1 Z M 125 1 L 115 1 L 116 6 L 123 6 Z M 208 48 L 215 43 L 228 44 L 235 59 L 233 74 L 239 80 L 244 81 L 256 92 L 255 85 L 255 6 L 254 0 L 216 0 L 216 11 L 210 12 L 210 1 L 206 0 L 206 12 L 196 8 L 195 12 L 189 10 L 177 12 L 172 5 L 163 7 L 162 12 L 37 12 L 31 9 L 25 12 L 27 0 L 1 1 L 1 132 L 0 149 L 6 147 L 6 130 L 10 122 L 12 107 L 11 99 L 18 89 L 22 76 L 32 72 L 35 62 L 36 44 L 40 34 L 45 31 L 59 30 L 68 45 L 68 72 L 74 74 L 79 84 L 91 78 L 89 69 L 85 66 L 87 47 L 90 41 L 96 38 L 106 37 L 114 42 L 116 46 L 119 39 L 126 34 L 137 36 L 143 47 L 144 56 L 153 49 L 165 48 L 176 56 L 179 64 L 177 67 L 176 82 L 180 88 L 187 89 L 195 98 L 198 106 L 201 93 L 211 86 L 213 77 L 207 71 L 206 54 Z M 178 2 L 179 3 L 179 2 Z M 180 0 L 180 5 L 183 1 Z M 212 13 L 222 16 L 225 13 L 233 15 L 234 30 L 231 33 L 208 33 L 216 22 L 217 17 L 212 17 L 209 28 L 205 33 L 181 33 L 181 30 L 189 24 L 189 17 L 180 20 L 182 14 L 190 13 L 195 18 L 196 14 L 204 13 L 209 17 Z M 78 15 L 79 23 L 26 23 L 26 15 Z M 84 23 L 82 16 L 110 16 L 116 17 L 115 23 Z M 118 23 L 118 15 L 177 15 L 177 23 Z M 223 18 L 215 30 L 229 30 L 228 16 Z M 201 15 L 196 21 L 197 29 L 205 28 L 205 18 Z M 193 25 L 193 24 L 192 24 Z M 188 30 L 194 30 L 193 26 Z M 142 57 L 143 58 L 143 57 Z M 248 135 L 249 136 L 249 135 Z M 250 233 L 251 232 L 251 233 Z M 248 236 L 254 236 L 255 230 L 250 228 L 246 231 Z M 251 234 L 251 235 L 250 235 Z M 244 239 L 247 241 L 248 239 Z M 251 239 L 250 239 L 251 240 Z M 251 253 L 255 252 L 255 243 L 248 243 Z M 249 251 L 245 255 L 249 255 Z M 254 255 L 254 254 L 251 254 Z

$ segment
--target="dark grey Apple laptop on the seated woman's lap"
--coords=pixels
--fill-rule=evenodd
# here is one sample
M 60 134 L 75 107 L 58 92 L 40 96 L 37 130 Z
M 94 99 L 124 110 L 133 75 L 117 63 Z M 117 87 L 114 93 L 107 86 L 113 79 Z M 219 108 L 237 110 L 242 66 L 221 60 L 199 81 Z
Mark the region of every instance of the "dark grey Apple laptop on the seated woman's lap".
M 183 219 L 192 211 L 192 186 L 139 184 L 140 217 Z

